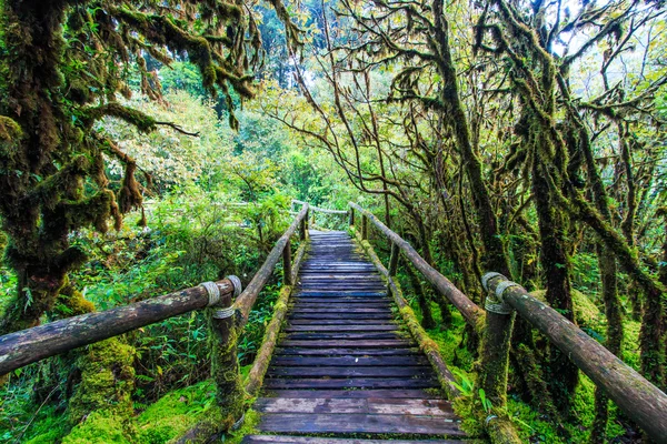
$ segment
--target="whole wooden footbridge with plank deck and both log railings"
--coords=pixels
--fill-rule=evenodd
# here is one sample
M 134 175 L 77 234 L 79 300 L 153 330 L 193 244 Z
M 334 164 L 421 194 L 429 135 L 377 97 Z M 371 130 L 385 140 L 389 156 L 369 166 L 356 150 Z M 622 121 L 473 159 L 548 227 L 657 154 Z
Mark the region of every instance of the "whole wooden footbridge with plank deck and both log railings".
M 460 396 L 458 384 L 402 296 L 395 278 L 402 254 L 481 337 L 477 384 L 492 407 L 487 404 L 474 414 L 491 442 L 520 442 L 505 413 L 515 315 L 527 320 L 564 351 L 651 440 L 667 442 L 667 395 L 519 284 L 498 273 L 487 273 L 482 279 L 487 291 L 482 309 L 359 205 L 350 203 L 349 211 L 310 209 L 312 214 L 349 216 L 350 239 L 347 232 L 308 230 L 309 205 L 297 203 L 302 206 L 293 222 L 242 291 L 238 278 L 229 276 L 4 335 L 0 337 L 0 375 L 153 322 L 207 309 L 217 403 L 179 443 L 210 442 L 211 430 L 219 436 L 239 426 L 247 407 L 245 401 L 255 396 L 259 397 L 253 408 L 261 417 L 259 433 L 245 437 L 249 444 L 368 444 L 385 438 L 395 443 L 454 443 L 467 438 L 447 401 Z M 360 229 L 356 228 L 356 214 L 361 216 Z M 387 266 L 368 242 L 371 228 L 391 243 Z M 291 240 L 297 231 L 300 243 L 292 260 Z M 281 259 L 280 295 L 243 381 L 238 366 L 238 337 Z

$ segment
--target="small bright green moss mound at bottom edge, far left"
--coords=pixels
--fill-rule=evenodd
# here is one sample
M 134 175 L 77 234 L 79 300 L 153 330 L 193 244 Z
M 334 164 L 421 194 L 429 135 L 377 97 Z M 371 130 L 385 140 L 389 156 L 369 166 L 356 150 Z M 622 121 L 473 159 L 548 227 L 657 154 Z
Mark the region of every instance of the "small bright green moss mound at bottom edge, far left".
M 62 444 L 131 444 L 125 433 L 125 421 L 111 411 L 93 412 L 72 428 Z

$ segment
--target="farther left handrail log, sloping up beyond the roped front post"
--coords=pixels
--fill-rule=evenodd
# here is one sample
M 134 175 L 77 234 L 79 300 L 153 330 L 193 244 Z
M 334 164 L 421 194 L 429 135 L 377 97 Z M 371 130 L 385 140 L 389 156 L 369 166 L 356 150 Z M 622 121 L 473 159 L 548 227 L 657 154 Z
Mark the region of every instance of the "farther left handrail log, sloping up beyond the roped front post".
M 297 214 L 291 225 L 289 225 L 287 231 L 280 236 L 278 242 L 276 242 L 265 263 L 261 265 L 259 271 L 255 273 L 255 276 L 248 284 L 248 286 L 246 286 L 243 292 L 240 294 L 240 296 L 237 297 L 236 302 L 233 303 L 233 307 L 241 314 L 240 326 L 243 326 L 248 322 L 248 315 L 250 314 L 250 311 L 252 310 L 252 306 L 257 301 L 259 292 L 269 281 L 269 278 L 273 273 L 273 268 L 276 266 L 280 258 L 282 258 L 282 253 L 290 238 L 295 234 L 295 232 L 301 224 L 301 221 L 307 216 L 308 209 L 308 203 L 303 203 L 301 211 L 299 211 L 299 214 Z

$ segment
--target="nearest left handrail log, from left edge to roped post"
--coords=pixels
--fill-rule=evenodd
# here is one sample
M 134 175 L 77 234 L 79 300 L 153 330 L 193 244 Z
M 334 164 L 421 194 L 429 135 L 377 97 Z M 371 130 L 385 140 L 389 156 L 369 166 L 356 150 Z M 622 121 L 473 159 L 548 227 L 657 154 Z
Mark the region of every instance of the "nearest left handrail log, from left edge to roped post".
M 235 291 L 229 279 L 216 284 L 221 297 L 230 297 Z M 81 314 L 6 334 L 0 336 L 0 375 L 208 305 L 209 294 L 199 285 L 117 309 Z

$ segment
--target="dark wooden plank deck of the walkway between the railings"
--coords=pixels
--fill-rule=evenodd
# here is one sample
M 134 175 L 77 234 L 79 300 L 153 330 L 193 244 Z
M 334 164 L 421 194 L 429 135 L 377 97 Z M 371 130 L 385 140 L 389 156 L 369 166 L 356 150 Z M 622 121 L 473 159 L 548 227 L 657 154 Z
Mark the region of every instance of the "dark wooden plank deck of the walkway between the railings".
M 243 443 L 460 443 L 451 441 L 464 436 L 458 418 L 372 263 L 346 232 L 310 239 L 255 404 L 262 435 Z

